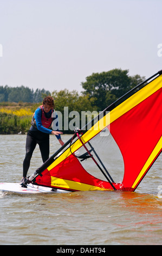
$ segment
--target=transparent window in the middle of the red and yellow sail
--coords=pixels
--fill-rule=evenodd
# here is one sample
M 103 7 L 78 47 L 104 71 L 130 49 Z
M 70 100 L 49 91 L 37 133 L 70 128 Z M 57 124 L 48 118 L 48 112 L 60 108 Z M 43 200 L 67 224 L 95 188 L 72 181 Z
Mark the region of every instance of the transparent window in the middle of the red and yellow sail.
M 107 170 L 115 183 L 121 183 L 124 177 L 124 161 L 120 149 L 107 127 L 94 138 L 90 139 L 90 141 L 85 145 L 106 176 L 108 176 L 106 173 Z M 79 150 L 75 151 L 76 156 L 82 156 L 85 154 L 88 155 L 83 146 Z M 95 178 L 107 181 L 106 177 L 102 174 L 101 170 L 92 158 L 79 161 L 89 174 L 95 176 Z

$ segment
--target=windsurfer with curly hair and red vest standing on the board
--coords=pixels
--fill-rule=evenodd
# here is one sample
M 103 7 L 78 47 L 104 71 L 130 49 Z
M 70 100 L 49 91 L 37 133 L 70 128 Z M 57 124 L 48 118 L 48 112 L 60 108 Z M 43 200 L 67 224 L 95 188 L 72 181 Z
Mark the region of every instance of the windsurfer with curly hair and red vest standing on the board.
M 51 130 L 51 123 L 56 119 L 58 116 L 54 112 L 54 100 L 53 97 L 47 96 L 44 98 L 43 103 L 40 107 L 38 107 L 33 114 L 33 118 L 31 120 L 31 127 L 27 134 L 27 141 L 26 141 L 26 155 L 23 161 L 23 178 L 21 180 L 21 185 L 23 186 L 25 181 L 27 181 L 27 173 L 30 166 L 31 156 L 33 155 L 33 151 L 36 147 L 36 144 L 39 145 L 41 156 L 43 163 L 49 159 L 49 135 L 55 135 L 56 138 L 59 140 L 61 146 L 64 145 L 58 129 L 57 131 Z M 55 114 L 55 117 L 53 117 Z M 58 126 L 57 126 L 58 127 Z

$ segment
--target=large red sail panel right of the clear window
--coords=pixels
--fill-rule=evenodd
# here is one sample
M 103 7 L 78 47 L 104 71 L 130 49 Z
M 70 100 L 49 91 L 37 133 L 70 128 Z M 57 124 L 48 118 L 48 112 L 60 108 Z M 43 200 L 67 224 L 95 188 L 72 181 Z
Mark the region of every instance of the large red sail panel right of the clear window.
M 151 157 L 151 164 L 161 151 L 159 142 L 162 131 L 161 102 L 160 88 L 145 100 L 141 98 L 138 105 L 111 124 L 111 133 L 124 157 L 125 174 L 122 184 L 125 188 L 132 187 L 135 190 L 149 168 L 149 166 L 146 168 L 145 163 L 157 144 L 159 147 L 155 151 L 155 156 L 153 154 L 154 157 Z

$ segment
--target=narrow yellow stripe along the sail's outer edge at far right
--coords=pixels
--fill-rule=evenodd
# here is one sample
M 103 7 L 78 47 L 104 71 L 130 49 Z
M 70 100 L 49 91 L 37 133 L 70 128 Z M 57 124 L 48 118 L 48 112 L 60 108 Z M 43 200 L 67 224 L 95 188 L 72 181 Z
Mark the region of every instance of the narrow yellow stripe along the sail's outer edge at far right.
M 162 145 L 162 136 L 159 139 L 159 142 L 155 146 L 154 150 L 152 151 L 150 157 L 148 157 L 148 160 L 145 163 L 144 167 L 141 169 L 141 172 L 139 173 L 137 179 L 134 181 L 132 188 L 134 188 L 138 184 L 138 182 L 141 179 L 142 175 L 144 175 L 144 173 L 146 172 L 148 167 L 152 164 L 152 162 L 155 159 L 155 157 L 159 154 L 159 152 L 161 150 L 161 145 Z

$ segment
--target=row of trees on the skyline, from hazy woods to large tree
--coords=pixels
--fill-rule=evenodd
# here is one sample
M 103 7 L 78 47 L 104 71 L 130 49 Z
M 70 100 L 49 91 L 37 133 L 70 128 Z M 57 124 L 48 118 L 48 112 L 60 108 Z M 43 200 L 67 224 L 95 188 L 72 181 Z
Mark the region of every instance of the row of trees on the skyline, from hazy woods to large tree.
M 107 72 L 93 73 L 81 82 L 83 92 L 79 95 L 76 91 L 69 92 L 67 89 L 52 93 L 45 89 L 33 89 L 28 87 L 0 86 L 0 102 L 41 102 L 44 95 L 53 95 L 56 107 L 62 104 L 68 107 L 79 108 L 88 106 L 102 111 L 112 102 L 124 95 L 128 90 L 145 80 L 144 76 L 129 76 L 129 70 L 113 69 Z M 75 102 L 77 100 L 77 102 Z

